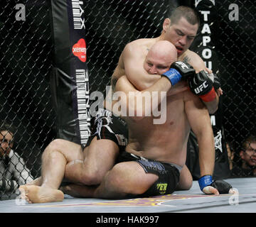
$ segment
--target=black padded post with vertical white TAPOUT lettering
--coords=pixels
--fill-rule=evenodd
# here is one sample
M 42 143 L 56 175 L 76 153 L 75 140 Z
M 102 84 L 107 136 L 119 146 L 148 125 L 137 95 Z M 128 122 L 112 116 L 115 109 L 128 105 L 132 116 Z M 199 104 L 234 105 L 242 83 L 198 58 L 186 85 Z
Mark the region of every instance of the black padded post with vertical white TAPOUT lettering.
M 221 80 L 221 72 L 218 72 L 218 54 L 215 49 L 215 42 L 218 40 L 218 12 L 215 0 L 196 0 L 195 7 L 201 18 L 201 25 L 191 49 L 201 56 L 206 67 L 213 70 L 213 73 L 217 74 Z M 210 114 L 210 121 L 215 139 L 215 163 L 222 165 L 221 167 L 215 165 L 214 173 L 216 177 L 228 177 L 228 153 L 223 131 L 223 96 L 220 96 L 218 111 Z

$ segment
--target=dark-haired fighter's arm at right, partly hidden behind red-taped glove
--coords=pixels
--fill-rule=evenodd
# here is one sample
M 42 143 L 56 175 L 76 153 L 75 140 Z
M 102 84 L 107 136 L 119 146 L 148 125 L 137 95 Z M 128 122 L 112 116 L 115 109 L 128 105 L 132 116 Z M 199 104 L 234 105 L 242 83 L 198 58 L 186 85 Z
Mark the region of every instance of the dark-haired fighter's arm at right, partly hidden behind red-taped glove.
M 201 59 L 199 55 L 197 55 L 195 52 L 188 50 L 185 57 L 183 57 L 183 62 L 186 62 L 193 66 L 193 68 L 196 70 L 196 72 L 200 72 L 201 70 L 206 70 L 206 65 Z M 205 102 L 203 103 L 206 105 L 209 114 L 214 114 L 215 111 L 218 110 L 218 94 L 216 94 L 216 98 L 213 101 Z

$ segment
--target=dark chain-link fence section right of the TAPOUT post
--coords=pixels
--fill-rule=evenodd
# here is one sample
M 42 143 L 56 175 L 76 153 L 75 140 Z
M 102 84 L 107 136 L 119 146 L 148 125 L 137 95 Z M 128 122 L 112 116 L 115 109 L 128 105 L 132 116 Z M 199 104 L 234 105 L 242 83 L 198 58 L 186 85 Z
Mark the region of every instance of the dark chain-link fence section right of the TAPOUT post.
M 221 4 L 216 1 L 216 6 L 219 26 L 216 48 L 224 90 L 223 126 L 230 148 L 230 168 L 234 177 L 253 176 L 256 175 L 256 154 L 247 154 L 247 158 L 244 156 L 252 143 L 256 145 L 256 139 L 252 139 L 246 147 L 243 143 L 256 134 L 256 32 L 253 23 L 256 6 L 248 0 L 222 1 Z

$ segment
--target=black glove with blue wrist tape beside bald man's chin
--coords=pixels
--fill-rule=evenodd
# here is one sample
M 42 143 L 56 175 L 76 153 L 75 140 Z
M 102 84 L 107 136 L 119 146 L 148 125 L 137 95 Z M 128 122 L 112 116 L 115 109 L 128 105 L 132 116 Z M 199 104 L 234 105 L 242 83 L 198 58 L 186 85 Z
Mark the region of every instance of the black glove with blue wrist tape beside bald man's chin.
M 196 71 L 193 67 L 185 62 L 174 62 L 171 64 L 170 70 L 161 74 L 161 76 L 167 77 L 171 82 L 171 86 L 177 84 L 181 79 L 188 79 L 194 77 Z

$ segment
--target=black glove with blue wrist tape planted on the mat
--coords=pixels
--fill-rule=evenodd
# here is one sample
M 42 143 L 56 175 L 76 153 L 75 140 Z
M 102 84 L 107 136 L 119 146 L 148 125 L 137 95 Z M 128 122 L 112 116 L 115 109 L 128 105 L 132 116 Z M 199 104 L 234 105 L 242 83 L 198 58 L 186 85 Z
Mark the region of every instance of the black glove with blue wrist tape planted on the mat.
M 208 194 L 208 187 L 214 187 L 220 194 L 228 194 L 230 193 L 230 189 L 232 189 L 232 186 L 228 182 L 224 180 L 213 180 L 211 175 L 201 177 L 198 179 L 198 183 L 201 191 L 206 194 Z

